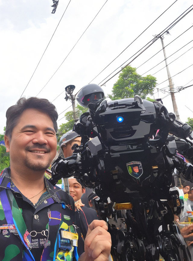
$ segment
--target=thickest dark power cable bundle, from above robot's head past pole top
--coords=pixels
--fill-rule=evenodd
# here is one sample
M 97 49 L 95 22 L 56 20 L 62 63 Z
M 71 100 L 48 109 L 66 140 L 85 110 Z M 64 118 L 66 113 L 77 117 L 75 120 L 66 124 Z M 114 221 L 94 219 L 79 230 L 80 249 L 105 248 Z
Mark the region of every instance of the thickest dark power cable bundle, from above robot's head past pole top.
M 191 5 L 189 8 L 191 8 L 192 6 L 193 6 L 193 5 Z M 188 9 L 189 9 L 189 8 L 188 8 Z M 184 14 L 188 9 L 186 9 L 182 14 Z M 176 25 L 180 20 L 182 20 L 182 18 L 184 18 L 184 17 L 185 17 L 190 11 L 192 11 L 192 10 L 193 10 L 193 8 L 192 8 L 191 10 L 189 10 L 185 15 L 183 15 L 178 21 L 176 21 L 176 20 L 182 15 L 182 14 L 181 14 L 178 18 L 176 18 L 176 19 L 171 23 L 171 24 L 173 24 L 173 23 L 176 21 L 175 24 L 173 24 L 173 25 L 172 25 L 171 27 L 169 27 L 169 28 L 166 27 L 167 29 L 165 28 L 165 29 L 164 29 L 165 31 L 163 30 L 163 31 L 162 31 L 160 34 L 158 34 L 158 35 L 159 35 L 159 36 L 162 36 L 163 34 L 165 34 L 167 31 L 169 31 L 174 25 Z M 169 24 L 169 26 L 170 26 L 171 24 Z M 147 50 L 155 41 L 157 41 L 158 38 L 159 38 L 159 37 L 154 37 L 153 40 L 151 40 L 151 41 L 153 41 L 152 43 L 150 43 L 151 41 L 147 43 L 147 44 L 150 43 L 150 45 L 148 45 L 143 51 L 141 51 L 147 44 L 144 45 L 144 47 L 142 47 L 140 50 L 138 50 L 138 52 L 141 51 L 141 53 L 143 53 L 143 52 L 144 52 L 145 50 Z M 138 52 L 136 52 L 135 54 L 137 54 Z M 141 55 L 141 53 L 139 53 L 137 56 L 135 56 L 133 60 L 131 60 L 129 63 L 127 63 L 125 66 L 123 66 L 123 67 L 121 68 L 121 70 L 119 70 L 118 72 L 116 72 L 116 73 L 115 73 L 112 77 L 110 77 L 106 82 L 108 82 L 108 81 L 109 81 L 110 79 L 112 79 L 115 75 L 117 75 L 119 72 L 121 72 L 122 69 L 124 69 L 124 68 L 125 68 L 126 66 L 128 66 L 132 61 L 134 61 L 139 55 Z M 135 55 L 135 54 L 134 54 L 134 55 Z M 134 55 L 132 55 L 129 59 L 131 59 Z M 129 59 L 128 59 L 128 60 L 129 60 Z M 128 61 L 128 60 L 127 60 L 127 61 Z M 125 61 L 124 63 L 126 63 L 127 61 Z M 124 63 L 122 63 L 122 65 L 123 65 Z M 115 72 L 117 69 L 119 69 L 122 65 L 120 65 L 118 68 L 116 68 L 113 72 Z M 106 78 L 108 78 L 113 72 L 111 72 Z M 105 79 L 106 79 L 106 78 L 105 78 Z M 101 82 L 103 82 L 105 79 L 103 79 Z M 101 82 L 100 82 L 100 83 L 101 83 Z M 103 84 L 102 84 L 101 86 L 103 86 L 106 82 L 103 82 Z M 99 84 L 100 84 L 100 83 L 99 83 Z

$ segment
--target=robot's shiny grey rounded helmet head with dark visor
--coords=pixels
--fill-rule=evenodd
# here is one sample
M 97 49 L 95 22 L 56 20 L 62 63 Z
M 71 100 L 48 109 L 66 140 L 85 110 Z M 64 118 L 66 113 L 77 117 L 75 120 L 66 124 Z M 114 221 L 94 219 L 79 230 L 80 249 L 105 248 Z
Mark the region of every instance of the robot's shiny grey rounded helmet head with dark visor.
M 77 101 L 83 107 L 88 107 L 89 103 L 95 103 L 104 97 L 103 89 L 94 83 L 84 85 L 77 94 Z

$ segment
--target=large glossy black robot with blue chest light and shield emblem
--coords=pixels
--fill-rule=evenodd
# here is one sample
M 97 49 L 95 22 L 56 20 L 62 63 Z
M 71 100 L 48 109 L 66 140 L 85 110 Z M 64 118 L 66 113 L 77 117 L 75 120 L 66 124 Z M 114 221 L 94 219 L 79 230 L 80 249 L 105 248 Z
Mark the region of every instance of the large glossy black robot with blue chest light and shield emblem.
M 173 222 L 181 212 L 179 193 L 170 191 L 175 168 L 179 178 L 193 178 L 191 127 L 161 103 L 138 95 L 107 101 L 99 85 L 89 84 L 77 97 L 89 108 L 73 128 L 82 145 L 74 145 L 72 157 L 55 161 L 52 183 L 73 174 L 95 188 L 100 198 L 95 208 L 108 221 L 113 260 L 191 260 Z

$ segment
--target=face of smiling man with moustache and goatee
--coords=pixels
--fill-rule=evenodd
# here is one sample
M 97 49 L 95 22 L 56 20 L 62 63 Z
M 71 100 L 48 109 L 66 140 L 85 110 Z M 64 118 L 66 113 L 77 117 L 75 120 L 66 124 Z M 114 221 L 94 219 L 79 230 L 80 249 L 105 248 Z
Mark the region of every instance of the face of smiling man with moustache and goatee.
M 51 118 L 36 109 L 27 109 L 14 127 L 11 139 L 5 136 L 11 168 L 45 171 L 56 154 L 57 140 Z

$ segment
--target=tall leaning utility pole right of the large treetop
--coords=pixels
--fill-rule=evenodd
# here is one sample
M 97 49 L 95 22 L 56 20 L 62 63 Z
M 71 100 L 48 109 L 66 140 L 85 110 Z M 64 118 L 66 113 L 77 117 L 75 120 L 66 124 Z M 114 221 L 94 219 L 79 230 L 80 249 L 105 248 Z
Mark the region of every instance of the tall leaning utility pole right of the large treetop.
M 174 84 L 172 82 L 172 78 L 171 78 L 171 75 L 170 75 L 170 72 L 169 72 L 169 68 L 168 68 L 168 63 L 167 63 L 167 57 L 166 57 L 165 46 L 164 46 L 164 43 L 163 43 L 163 38 L 164 38 L 163 36 L 160 36 L 160 40 L 161 40 L 162 48 L 163 48 L 163 54 L 164 54 L 164 58 L 165 58 L 165 62 L 166 62 L 166 69 L 167 69 L 167 74 L 168 74 L 169 89 L 170 89 L 170 94 L 171 94 L 171 98 L 172 98 L 173 110 L 174 110 L 174 113 L 176 115 L 176 119 L 180 120 L 178 107 L 177 107 L 177 104 L 176 104 L 176 98 L 175 98 L 175 94 L 174 94 Z

